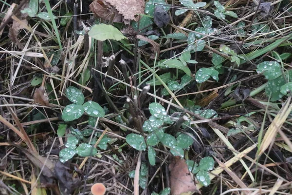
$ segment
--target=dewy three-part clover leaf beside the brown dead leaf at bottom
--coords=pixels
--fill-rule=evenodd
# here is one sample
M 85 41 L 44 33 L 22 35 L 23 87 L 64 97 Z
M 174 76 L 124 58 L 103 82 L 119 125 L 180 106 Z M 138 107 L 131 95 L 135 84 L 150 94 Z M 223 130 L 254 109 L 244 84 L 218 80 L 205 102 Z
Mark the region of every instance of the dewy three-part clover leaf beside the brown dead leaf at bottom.
M 186 164 L 189 171 L 193 174 L 196 174 L 196 178 L 202 185 L 210 185 L 211 178 L 208 172 L 213 170 L 215 164 L 212 157 L 207 156 L 202 158 L 199 165 L 193 160 L 186 160 Z

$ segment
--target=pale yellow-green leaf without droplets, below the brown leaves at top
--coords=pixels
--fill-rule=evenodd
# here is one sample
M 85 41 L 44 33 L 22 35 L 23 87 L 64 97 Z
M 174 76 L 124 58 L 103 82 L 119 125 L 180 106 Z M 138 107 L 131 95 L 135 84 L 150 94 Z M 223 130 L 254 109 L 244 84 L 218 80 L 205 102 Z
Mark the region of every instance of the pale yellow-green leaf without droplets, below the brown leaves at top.
M 95 24 L 88 35 L 93 39 L 102 41 L 107 39 L 119 41 L 126 38 L 117 28 L 109 24 Z

